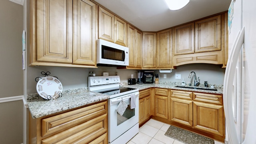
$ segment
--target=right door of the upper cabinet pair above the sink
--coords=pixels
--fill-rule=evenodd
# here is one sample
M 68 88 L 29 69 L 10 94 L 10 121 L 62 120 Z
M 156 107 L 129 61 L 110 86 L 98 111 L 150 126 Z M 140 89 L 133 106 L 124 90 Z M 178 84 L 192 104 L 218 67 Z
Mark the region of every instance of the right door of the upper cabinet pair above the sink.
M 195 52 L 221 50 L 221 15 L 195 22 Z

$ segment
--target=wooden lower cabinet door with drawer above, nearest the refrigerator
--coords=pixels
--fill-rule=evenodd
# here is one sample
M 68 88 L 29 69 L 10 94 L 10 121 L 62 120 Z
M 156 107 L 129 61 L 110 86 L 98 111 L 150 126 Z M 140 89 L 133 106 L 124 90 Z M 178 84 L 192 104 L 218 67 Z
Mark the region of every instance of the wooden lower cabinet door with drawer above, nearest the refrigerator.
M 193 127 L 224 136 L 225 117 L 222 95 L 193 93 Z

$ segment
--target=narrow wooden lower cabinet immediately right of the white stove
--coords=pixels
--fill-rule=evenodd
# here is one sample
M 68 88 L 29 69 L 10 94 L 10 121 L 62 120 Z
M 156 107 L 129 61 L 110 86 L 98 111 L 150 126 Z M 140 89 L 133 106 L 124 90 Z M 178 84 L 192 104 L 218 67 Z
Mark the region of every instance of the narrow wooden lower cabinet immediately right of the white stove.
M 143 124 L 151 116 L 150 88 L 140 91 L 139 98 L 139 125 Z

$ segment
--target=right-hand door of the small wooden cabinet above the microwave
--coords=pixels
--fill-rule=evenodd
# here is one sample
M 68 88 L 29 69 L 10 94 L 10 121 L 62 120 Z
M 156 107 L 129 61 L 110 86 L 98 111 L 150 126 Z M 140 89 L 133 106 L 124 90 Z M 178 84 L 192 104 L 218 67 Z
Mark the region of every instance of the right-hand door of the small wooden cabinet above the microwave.
M 127 23 L 121 18 L 114 16 L 114 24 L 115 24 L 114 42 L 116 44 L 126 46 Z

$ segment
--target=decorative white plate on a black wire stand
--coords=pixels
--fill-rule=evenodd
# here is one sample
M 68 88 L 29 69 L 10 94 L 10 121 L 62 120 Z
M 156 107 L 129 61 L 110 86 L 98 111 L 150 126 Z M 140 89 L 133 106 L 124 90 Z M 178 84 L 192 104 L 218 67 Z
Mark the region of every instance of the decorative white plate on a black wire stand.
M 62 84 L 57 78 L 46 76 L 37 82 L 36 91 L 44 99 L 55 99 L 62 93 Z

